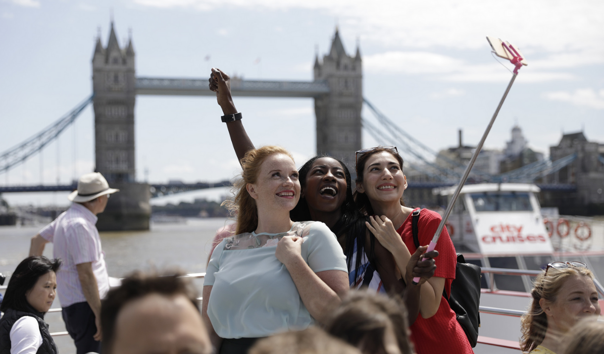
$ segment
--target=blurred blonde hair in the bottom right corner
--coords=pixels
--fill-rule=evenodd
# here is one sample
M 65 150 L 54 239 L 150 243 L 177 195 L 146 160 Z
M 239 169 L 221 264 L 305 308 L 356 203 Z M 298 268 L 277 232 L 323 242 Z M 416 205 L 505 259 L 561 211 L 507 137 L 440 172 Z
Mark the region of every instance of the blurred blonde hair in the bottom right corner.
M 604 323 L 588 318 L 577 323 L 562 340 L 562 354 L 604 353 Z

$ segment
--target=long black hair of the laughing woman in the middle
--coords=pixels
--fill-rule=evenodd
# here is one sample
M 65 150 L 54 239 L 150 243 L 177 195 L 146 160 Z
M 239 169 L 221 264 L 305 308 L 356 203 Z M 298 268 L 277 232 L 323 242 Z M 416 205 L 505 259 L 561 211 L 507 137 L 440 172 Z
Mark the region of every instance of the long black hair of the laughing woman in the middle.
M 338 161 L 344 170 L 344 176 L 346 178 L 346 199 L 340 207 L 341 216 L 338 222 L 336 222 L 336 224 L 333 225 L 330 230 L 332 230 L 336 237 L 340 237 L 345 234 L 344 254 L 346 255 L 346 263 L 350 272 L 352 269 L 353 254 L 355 253 L 355 243 L 357 251 L 355 269 L 359 269 L 361 266 L 362 255 L 365 248 L 365 234 L 367 233 L 365 221 L 368 219 L 359 213 L 359 210 L 356 207 L 355 198 L 352 194 L 352 177 L 350 176 L 350 170 L 348 167 L 346 167 L 346 164 L 342 162 L 341 159 L 329 155 L 317 155 L 306 161 L 306 163 L 304 163 L 304 165 L 298 170 L 298 173 L 300 173 L 300 189 L 304 190 L 306 187 L 306 178 L 310 172 L 310 167 L 312 167 L 315 161 L 320 158 L 335 159 L 335 161 Z M 300 201 L 298 201 L 296 207 L 290 211 L 289 216 L 294 221 L 312 220 L 306 198 L 300 198 Z M 374 245 L 375 237 L 370 235 L 370 249 L 367 257 L 370 262 L 373 262 L 375 259 Z M 361 272 L 357 272 L 355 283 L 356 280 L 361 277 L 361 275 Z

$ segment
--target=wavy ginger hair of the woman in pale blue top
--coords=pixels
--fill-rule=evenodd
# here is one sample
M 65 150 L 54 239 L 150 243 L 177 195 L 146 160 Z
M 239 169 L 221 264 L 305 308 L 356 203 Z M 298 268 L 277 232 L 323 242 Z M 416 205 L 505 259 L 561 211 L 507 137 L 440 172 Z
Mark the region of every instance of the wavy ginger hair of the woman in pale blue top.
M 237 216 L 235 234 L 251 233 L 258 227 L 258 208 L 256 207 L 256 201 L 248 193 L 247 185 L 248 183 L 254 184 L 257 181 L 264 160 L 276 153 L 288 155 L 294 161 L 291 153 L 280 146 L 263 146 L 249 150 L 241 159 L 240 163 L 243 168 L 241 178 L 233 183 L 235 198 L 223 203 L 232 216 Z

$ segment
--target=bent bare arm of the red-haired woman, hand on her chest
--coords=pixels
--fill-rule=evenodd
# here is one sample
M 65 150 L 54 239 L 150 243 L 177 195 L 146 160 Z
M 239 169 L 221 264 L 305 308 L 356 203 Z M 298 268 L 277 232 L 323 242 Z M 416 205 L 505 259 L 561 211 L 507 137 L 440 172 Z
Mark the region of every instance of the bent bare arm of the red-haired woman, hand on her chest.
M 339 270 L 313 272 L 301 256 L 302 242 L 298 236 L 283 236 L 277 243 L 275 256 L 288 268 L 310 315 L 325 323 L 341 304 L 341 298 L 348 294 L 348 274 Z

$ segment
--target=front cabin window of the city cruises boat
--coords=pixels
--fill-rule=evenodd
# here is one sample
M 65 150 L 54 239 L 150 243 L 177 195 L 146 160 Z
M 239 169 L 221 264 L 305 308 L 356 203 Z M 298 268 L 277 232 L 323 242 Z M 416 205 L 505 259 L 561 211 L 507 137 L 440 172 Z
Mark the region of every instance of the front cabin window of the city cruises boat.
M 528 193 L 492 192 L 472 193 L 474 208 L 481 211 L 533 211 Z

